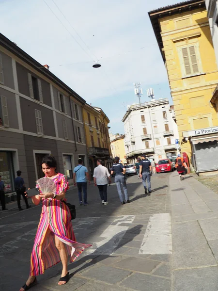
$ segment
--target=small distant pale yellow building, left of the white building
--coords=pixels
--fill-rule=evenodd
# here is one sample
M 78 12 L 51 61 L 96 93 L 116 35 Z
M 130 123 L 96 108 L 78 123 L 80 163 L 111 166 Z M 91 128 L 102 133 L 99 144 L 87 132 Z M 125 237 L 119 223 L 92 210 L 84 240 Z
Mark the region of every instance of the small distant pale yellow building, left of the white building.
M 126 164 L 126 156 L 125 156 L 125 143 L 124 143 L 125 135 L 123 134 L 114 134 L 110 135 L 110 149 L 112 153 L 113 159 L 115 157 L 119 157 L 121 163 Z

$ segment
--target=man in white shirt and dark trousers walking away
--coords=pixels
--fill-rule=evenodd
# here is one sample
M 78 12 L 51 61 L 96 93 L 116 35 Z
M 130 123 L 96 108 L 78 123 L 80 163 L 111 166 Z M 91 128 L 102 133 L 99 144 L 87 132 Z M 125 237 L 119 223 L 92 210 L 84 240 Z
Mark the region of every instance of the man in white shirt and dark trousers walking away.
M 94 168 L 94 186 L 98 186 L 101 202 L 103 205 L 108 205 L 108 180 L 111 183 L 110 174 L 106 167 L 102 165 L 102 160 L 97 160 L 97 167 Z

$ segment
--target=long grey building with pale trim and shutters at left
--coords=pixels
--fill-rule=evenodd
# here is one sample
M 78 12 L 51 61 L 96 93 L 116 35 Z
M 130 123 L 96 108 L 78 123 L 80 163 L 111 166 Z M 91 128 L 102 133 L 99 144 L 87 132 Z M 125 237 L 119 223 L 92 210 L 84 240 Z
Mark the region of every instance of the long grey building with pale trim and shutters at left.
M 81 157 L 87 164 L 82 106 L 85 100 L 47 68 L 0 34 L 0 175 L 15 191 L 16 171 L 27 187 L 43 177 L 45 155 L 72 182 Z

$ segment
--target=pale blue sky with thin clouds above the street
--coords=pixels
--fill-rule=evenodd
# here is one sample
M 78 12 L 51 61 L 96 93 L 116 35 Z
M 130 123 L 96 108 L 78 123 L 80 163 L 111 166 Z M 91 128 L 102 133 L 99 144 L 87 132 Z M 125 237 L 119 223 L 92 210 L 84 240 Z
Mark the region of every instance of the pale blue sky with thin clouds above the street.
M 167 72 L 148 11 L 178 0 L 0 0 L 0 32 L 109 117 L 124 133 L 126 106 L 171 100 Z M 93 68 L 99 61 L 100 68 Z

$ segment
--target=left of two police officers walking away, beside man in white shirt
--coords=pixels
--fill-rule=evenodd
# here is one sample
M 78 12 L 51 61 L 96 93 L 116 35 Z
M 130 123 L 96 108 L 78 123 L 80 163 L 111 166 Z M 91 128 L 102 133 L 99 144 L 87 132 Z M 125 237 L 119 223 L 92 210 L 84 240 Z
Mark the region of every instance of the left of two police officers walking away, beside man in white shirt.
M 126 188 L 126 182 L 125 182 L 125 167 L 122 163 L 120 163 L 120 158 L 115 157 L 114 158 L 114 164 L 112 166 L 111 175 L 115 173 L 115 183 L 117 185 L 117 191 L 120 197 L 121 204 L 130 203 L 127 188 Z M 123 187 L 122 187 L 122 186 Z M 124 190 L 124 194 L 122 192 L 122 188 Z M 125 196 L 125 201 L 124 201 Z

